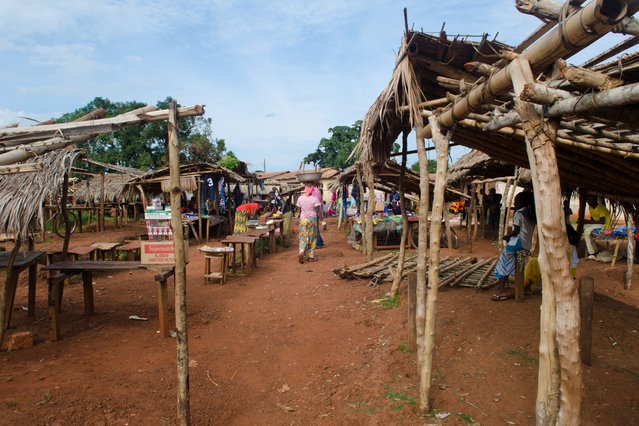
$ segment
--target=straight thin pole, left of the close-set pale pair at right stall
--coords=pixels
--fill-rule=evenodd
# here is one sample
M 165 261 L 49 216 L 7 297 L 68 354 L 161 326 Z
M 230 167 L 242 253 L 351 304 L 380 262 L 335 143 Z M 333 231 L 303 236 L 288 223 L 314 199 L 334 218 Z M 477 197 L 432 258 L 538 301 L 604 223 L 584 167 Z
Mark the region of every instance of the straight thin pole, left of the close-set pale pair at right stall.
M 426 247 L 428 236 L 428 210 L 430 208 L 430 191 L 428 177 L 428 158 L 426 146 L 422 136 L 422 125 L 418 123 L 416 132 L 417 156 L 419 158 L 419 236 L 417 243 L 417 306 L 415 308 L 415 321 L 417 330 L 417 371 L 421 377 L 424 359 L 424 333 L 426 331 L 426 269 L 428 262 L 428 248 Z M 420 401 L 422 400 L 420 389 Z

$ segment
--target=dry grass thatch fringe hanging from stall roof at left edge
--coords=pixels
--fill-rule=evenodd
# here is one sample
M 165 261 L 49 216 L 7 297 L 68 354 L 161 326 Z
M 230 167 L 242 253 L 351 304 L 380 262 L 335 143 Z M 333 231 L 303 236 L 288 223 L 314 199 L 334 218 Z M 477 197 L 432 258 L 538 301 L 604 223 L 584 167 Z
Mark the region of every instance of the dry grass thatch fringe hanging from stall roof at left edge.
M 31 160 L 42 171 L 0 175 L 0 232 L 25 241 L 36 223 L 44 226 L 43 206 L 60 196 L 64 175 L 78 155 L 77 149 L 52 151 Z

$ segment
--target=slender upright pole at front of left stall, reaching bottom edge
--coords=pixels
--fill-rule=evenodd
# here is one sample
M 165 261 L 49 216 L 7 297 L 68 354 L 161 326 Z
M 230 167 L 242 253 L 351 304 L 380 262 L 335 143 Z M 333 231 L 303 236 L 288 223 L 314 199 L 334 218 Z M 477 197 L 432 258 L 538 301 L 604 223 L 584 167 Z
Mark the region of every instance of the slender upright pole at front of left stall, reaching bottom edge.
M 191 424 L 189 402 L 189 350 L 186 317 L 186 254 L 184 230 L 180 214 L 182 189 L 180 188 L 180 164 L 177 130 L 177 106 L 169 104 L 169 171 L 171 174 L 171 227 L 175 248 L 175 327 L 177 340 L 178 398 L 177 414 L 180 425 Z

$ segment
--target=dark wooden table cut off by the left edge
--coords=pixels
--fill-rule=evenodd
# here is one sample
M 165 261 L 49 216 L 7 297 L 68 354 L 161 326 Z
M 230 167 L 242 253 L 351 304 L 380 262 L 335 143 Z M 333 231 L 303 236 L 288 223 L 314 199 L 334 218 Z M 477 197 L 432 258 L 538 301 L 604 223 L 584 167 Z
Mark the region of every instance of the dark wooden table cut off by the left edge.
M 0 269 L 6 270 L 7 263 L 9 261 L 10 252 L 0 252 Z M 20 272 L 25 269 L 29 269 L 29 296 L 28 296 L 28 314 L 30 317 L 35 315 L 35 290 L 36 279 L 38 273 L 38 263 L 44 264 L 46 252 L 44 251 L 27 251 L 18 252 L 16 254 L 15 261 L 13 262 L 14 274 L 12 279 L 5 282 L 7 286 L 7 310 L 5 311 L 5 327 L 9 327 L 11 323 L 11 312 L 13 311 L 13 302 L 16 296 L 16 289 L 18 287 L 18 277 Z

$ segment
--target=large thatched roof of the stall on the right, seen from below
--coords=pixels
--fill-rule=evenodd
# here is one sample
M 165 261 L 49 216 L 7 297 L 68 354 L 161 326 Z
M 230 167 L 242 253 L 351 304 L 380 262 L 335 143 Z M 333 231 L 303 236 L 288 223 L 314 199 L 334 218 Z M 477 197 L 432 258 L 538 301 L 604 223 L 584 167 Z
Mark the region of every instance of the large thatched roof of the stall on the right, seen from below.
M 628 1 L 627 6 L 627 14 L 631 16 L 639 9 L 639 0 Z M 602 8 L 600 12 L 615 13 L 616 10 Z M 606 16 L 604 18 L 607 19 Z M 597 34 L 603 34 L 611 27 L 607 26 Z M 550 53 L 556 51 L 556 56 L 567 59 L 578 48 L 564 47 L 562 50 L 560 46 L 555 50 L 549 49 L 547 57 L 539 59 L 546 51 L 536 45 L 545 46 L 549 41 L 557 40 L 559 36 L 556 34 L 561 29 L 550 31 L 548 36 L 537 42 L 533 39 L 531 43 L 522 43 L 515 48 L 491 41 L 487 35 L 477 39 L 471 36 L 450 38 L 444 32 L 432 35 L 408 31 L 402 39 L 389 84 L 364 117 L 360 141 L 354 153 L 360 156 L 361 161 L 384 164 L 393 143 L 403 131 L 416 127 L 420 121 L 425 122 L 425 117 L 441 108 L 442 115 L 447 114 L 448 120 L 455 123 L 452 142 L 484 152 L 495 160 L 527 168 L 525 136 L 518 121 L 511 120 L 506 127 L 495 126 L 496 130 L 489 130 L 488 126 L 488 123 L 496 124 L 497 119 L 512 117 L 513 94 L 508 91 L 493 93 L 490 84 L 482 83 L 490 81 L 508 65 L 509 55 L 503 55 L 501 51 L 523 51 L 523 57 L 532 55 L 525 56 L 528 52 L 536 52 L 537 62 L 531 62 L 531 68 L 537 76 L 537 83 L 548 91 L 560 88 L 556 93 L 576 102 L 569 113 L 553 113 L 557 101 L 537 106 L 545 117 L 555 114 L 559 118 L 555 148 L 562 185 L 585 188 L 613 199 L 639 201 L 637 97 L 628 96 L 625 103 L 613 106 L 597 108 L 595 103 L 585 110 L 579 107 L 580 102 L 588 99 L 599 100 L 597 96 L 600 94 L 613 96 L 613 91 L 616 91 L 615 94 L 620 91 L 637 93 L 638 55 L 621 56 L 598 65 L 611 57 L 604 52 L 586 62 L 583 69 L 614 79 L 614 84 L 619 86 L 610 90 L 605 87 L 593 89 L 592 85 L 569 79 L 566 73 L 559 72 L 560 62 L 555 69 L 552 68 L 555 58 Z M 583 36 L 579 44 L 590 44 L 583 40 L 586 37 L 593 40 L 598 37 L 597 34 L 591 32 Z M 627 49 L 635 44 L 626 40 L 615 52 L 623 53 L 624 47 Z M 567 68 L 577 69 L 564 63 L 563 69 Z M 480 99 L 487 101 L 471 105 L 466 95 L 472 90 Z M 458 108 L 458 103 L 471 112 L 456 115 L 461 108 Z

